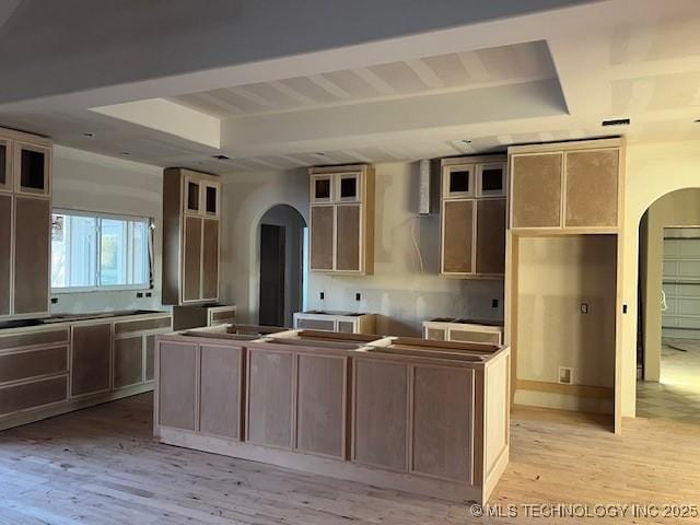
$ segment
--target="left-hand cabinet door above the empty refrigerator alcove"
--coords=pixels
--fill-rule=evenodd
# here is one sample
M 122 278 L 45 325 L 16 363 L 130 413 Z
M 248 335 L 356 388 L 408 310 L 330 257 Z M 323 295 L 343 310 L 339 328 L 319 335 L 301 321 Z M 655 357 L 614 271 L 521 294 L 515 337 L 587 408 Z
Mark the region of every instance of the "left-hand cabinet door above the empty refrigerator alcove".
M 560 228 L 562 153 L 511 158 L 511 226 Z

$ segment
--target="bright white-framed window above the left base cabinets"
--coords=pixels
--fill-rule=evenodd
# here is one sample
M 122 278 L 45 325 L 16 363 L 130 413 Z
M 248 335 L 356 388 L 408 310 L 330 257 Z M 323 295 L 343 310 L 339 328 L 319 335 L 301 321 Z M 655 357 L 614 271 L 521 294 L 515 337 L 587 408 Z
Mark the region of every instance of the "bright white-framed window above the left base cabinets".
M 151 288 L 150 219 L 54 211 L 55 292 Z

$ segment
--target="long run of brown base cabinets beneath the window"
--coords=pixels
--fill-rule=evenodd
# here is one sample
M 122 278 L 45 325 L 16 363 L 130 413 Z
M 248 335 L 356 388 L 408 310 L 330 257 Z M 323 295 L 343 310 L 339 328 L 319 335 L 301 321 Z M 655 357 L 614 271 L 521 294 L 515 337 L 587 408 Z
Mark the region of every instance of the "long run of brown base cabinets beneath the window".
M 153 389 L 170 314 L 0 329 L 0 430 Z

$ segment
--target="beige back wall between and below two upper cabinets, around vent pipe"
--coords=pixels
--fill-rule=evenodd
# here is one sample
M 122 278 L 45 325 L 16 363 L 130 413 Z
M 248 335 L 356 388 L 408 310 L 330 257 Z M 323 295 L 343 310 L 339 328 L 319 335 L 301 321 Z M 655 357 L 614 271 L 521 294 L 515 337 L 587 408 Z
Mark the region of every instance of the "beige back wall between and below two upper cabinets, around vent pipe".
M 378 313 L 377 331 L 410 336 L 432 317 L 503 318 L 502 280 L 439 276 L 440 214 L 418 215 L 418 163 L 376 165 L 375 213 L 374 275 L 311 273 L 310 308 Z

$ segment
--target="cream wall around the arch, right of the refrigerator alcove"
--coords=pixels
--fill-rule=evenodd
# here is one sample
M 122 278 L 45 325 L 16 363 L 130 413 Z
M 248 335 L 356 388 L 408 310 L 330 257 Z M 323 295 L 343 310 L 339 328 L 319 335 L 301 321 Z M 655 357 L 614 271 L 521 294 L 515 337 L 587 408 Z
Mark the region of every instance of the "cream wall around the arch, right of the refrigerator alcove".
M 637 283 L 642 214 L 660 197 L 700 187 L 700 140 L 632 144 L 627 149 L 623 237 L 623 317 L 620 380 L 622 415 L 634 416 L 637 404 Z

